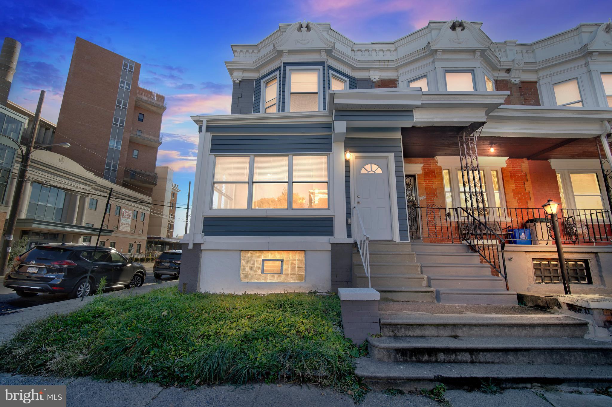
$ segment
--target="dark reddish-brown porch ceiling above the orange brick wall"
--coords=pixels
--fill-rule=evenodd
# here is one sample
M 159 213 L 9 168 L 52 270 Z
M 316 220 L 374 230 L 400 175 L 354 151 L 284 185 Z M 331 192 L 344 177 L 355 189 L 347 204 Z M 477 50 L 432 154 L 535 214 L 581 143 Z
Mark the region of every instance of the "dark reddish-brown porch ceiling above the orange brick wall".
M 457 134 L 463 127 L 409 127 L 401 129 L 406 158 L 433 158 L 459 155 Z M 490 151 L 491 146 L 494 152 Z M 594 139 L 485 137 L 476 142 L 479 156 L 504 156 L 550 160 L 551 158 L 598 158 Z

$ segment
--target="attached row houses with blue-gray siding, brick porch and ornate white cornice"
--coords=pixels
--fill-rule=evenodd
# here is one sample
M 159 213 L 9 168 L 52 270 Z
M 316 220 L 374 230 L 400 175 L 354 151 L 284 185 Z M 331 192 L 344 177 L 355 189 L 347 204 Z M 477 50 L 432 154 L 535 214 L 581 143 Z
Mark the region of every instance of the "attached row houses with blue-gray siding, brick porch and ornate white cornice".
M 611 292 L 611 23 L 355 43 L 303 21 L 232 50 L 231 114 L 192 117 L 189 290 L 516 304 L 563 292 L 551 199 L 573 292 Z

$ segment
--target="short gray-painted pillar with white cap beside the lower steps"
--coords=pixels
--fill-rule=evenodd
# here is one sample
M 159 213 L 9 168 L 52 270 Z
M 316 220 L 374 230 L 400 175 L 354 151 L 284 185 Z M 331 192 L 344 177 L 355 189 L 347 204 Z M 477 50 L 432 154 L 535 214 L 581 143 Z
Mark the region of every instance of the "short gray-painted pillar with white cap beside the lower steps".
M 374 288 L 338 288 L 338 296 L 346 338 L 360 345 L 368 336 L 381 333 L 378 313 L 381 295 L 378 291 Z

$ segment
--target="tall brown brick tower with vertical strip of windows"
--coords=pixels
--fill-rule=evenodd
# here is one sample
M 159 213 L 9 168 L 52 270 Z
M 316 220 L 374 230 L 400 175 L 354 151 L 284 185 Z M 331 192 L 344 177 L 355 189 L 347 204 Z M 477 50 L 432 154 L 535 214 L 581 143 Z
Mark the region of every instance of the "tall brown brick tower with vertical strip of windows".
M 138 86 L 140 69 L 77 37 L 54 142 L 72 144 L 61 153 L 95 175 L 151 196 L 166 101 Z

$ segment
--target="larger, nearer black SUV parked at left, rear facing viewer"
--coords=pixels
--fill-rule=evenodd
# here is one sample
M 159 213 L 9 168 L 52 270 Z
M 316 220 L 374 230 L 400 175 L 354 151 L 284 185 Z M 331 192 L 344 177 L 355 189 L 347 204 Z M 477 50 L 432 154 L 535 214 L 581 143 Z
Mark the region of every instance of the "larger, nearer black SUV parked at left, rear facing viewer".
M 89 283 L 87 271 L 91 267 Z M 118 251 L 84 244 L 39 244 L 15 257 L 4 287 L 17 295 L 31 297 L 37 293 L 69 293 L 72 298 L 94 293 L 100 279 L 106 277 L 106 288 L 140 287 L 147 272 L 140 263 L 130 263 Z

